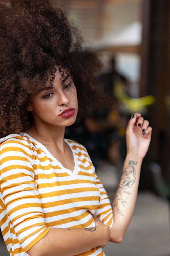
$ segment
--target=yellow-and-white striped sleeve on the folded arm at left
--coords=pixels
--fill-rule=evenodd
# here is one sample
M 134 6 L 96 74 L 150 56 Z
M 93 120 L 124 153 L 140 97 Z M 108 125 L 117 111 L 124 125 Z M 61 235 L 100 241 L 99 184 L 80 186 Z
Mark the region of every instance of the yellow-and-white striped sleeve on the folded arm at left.
M 49 229 L 34 180 L 32 152 L 24 139 L 13 138 L 0 146 L 0 198 L 0 208 L 10 219 L 9 232 L 27 252 Z M 8 223 L 3 228 L 9 228 Z

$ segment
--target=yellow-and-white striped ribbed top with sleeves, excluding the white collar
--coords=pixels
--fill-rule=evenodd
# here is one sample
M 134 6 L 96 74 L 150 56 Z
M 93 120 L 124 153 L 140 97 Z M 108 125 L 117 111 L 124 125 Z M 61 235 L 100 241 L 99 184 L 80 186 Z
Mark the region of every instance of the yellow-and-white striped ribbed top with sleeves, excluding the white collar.
M 28 134 L 0 139 L 0 226 L 10 256 L 26 253 L 49 228 L 109 227 L 113 213 L 85 147 L 65 139 L 75 162 L 70 171 Z M 100 247 L 80 254 L 102 256 Z

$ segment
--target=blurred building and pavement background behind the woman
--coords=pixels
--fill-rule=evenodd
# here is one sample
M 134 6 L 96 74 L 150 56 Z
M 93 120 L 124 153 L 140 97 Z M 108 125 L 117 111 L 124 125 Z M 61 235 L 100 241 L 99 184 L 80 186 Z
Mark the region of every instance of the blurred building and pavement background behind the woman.
M 170 1 L 52 2 L 65 7 L 84 45 L 99 54 L 103 69 L 96 78 L 115 100 L 65 134 L 87 148 L 111 200 L 126 155 L 128 119 L 140 112 L 153 128 L 132 221 L 122 243 L 105 247 L 106 256 L 170 256 Z M 2 239 L 0 251 L 8 255 Z

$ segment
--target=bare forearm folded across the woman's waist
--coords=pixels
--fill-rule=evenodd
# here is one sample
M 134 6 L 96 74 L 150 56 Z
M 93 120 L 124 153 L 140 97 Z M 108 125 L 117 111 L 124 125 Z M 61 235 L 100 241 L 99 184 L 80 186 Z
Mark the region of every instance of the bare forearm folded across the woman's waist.
M 107 244 L 110 234 L 106 230 L 108 227 L 105 226 L 104 229 L 101 227 L 85 229 L 50 228 L 46 236 L 27 253 L 30 256 L 77 255 L 97 246 Z M 104 232 L 104 236 L 102 232 Z

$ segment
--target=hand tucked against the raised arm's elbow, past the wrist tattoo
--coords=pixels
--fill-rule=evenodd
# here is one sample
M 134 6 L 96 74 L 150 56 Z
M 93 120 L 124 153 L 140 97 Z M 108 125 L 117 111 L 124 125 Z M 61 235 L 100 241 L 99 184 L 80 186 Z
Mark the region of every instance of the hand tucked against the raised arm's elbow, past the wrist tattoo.
M 100 221 L 99 218 L 94 217 L 94 221 L 95 221 L 95 227 L 98 227 L 98 229 L 101 230 L 101 236 L 103 239 L 101 240 L 102 242 L 100 247 L 103 249 L 108 243 L 108 241 L 110 240 L 111 230 L 107 225 L 105 225 L 102 221 Z

